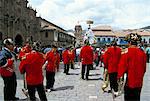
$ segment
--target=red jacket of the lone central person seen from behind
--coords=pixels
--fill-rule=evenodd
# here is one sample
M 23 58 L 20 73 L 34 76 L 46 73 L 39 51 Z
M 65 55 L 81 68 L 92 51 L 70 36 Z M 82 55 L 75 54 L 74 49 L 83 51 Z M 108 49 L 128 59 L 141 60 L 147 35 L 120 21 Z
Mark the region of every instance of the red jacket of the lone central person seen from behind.
M 93 48 L 91 46 L 83 46 L 80 52 L 82 64 L 93 64 Z

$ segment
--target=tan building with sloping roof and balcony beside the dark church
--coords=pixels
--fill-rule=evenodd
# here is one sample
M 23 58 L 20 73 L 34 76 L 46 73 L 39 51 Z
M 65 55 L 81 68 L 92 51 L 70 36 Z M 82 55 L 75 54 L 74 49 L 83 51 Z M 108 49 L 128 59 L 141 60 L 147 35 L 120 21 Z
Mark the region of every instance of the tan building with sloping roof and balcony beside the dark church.
M 39 21 L 41 22 L 40 40 L 42 46 L 55 44 L 58 47 L 66 47 L 74 45 L 75 37 L 66 30 L 40 17 Z

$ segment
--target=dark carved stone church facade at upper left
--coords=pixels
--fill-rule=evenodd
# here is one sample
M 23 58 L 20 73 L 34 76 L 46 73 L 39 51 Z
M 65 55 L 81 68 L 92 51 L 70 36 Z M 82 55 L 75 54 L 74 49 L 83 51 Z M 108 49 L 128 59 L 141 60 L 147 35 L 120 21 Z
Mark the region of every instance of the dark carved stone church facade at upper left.
M 27 0 L 0 0 L 0 40 L 10 37 L 16 45 L 39 39 L 40 23 L 36 10 Z

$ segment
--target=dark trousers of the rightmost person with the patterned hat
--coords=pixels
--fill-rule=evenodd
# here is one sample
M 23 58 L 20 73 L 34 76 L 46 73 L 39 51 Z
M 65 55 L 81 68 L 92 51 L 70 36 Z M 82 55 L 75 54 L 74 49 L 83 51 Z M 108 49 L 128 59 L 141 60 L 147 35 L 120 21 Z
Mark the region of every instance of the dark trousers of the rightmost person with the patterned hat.
M 140 101 L 141 88 L 124 87 L 124 100 L 125 101 Z

